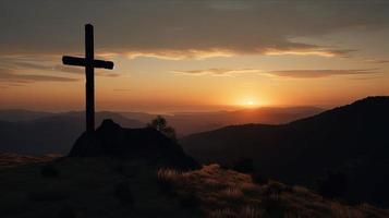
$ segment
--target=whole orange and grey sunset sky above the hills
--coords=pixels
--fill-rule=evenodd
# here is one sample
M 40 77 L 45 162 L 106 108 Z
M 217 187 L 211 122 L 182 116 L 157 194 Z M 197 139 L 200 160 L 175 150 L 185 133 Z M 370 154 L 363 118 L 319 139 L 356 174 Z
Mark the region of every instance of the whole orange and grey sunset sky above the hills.
M 0 109 L 83 110 L 95 26 L 96 109 L 333 107 L 389 95 L 387 0 L 4 0 Z

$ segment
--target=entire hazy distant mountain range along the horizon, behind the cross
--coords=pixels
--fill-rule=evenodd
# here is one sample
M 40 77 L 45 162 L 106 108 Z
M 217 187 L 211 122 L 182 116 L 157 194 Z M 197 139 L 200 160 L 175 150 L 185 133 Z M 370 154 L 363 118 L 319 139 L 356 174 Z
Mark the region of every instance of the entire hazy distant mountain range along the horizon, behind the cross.
M 314 107 L 259 108 L 239 111 L 165 114 L 179 136 L 246 122 L 282 123 L 321 111 Z M 142 128 L 156 114 L 144 112 L 96 113 L 96 125 L 112 119 L 124 128 Z M 0 152 L 44 155 L 65 154 L 85 130 L 84 112 L 63 113 L 28 110 L 0 110 Z

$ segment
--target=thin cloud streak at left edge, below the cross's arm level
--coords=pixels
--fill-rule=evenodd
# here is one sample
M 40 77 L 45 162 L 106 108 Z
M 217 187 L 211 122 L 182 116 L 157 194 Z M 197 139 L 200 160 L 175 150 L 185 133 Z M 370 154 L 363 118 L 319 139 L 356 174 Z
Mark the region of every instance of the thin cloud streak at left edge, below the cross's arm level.
M 52 76 L 44 74 L 23 74 L 12 70 L 0 69 L 0 83 L 4 85 L 25 84 L 34 82 L 74 82 L 77 78 Z

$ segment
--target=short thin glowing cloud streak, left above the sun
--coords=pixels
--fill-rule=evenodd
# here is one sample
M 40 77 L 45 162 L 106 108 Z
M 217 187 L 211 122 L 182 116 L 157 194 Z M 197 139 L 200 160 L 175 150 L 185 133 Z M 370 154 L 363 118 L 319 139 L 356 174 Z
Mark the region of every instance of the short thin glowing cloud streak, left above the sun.
M 187 74 L 187 75 L 214 75 L 214 76 L 233 76 L 236 74 L 243 73 L 258 73 L 260 72 L 257 69 L 205 69 L 205 70 L 187 70 L 187 71 L 172 71 L 172 73 L 177 74 Z

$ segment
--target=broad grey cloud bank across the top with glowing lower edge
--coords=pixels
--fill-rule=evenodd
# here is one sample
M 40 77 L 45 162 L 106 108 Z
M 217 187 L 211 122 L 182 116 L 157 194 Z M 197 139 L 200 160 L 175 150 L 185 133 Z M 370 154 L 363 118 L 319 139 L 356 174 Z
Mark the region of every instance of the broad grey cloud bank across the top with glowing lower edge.
M 0 55 L 80 52 L 87 22 L 96 26 L 97 53 L 172 60 L 281 53 L 344 57 L 352 48 L 292 39 L 389 27 L 389 2 L 380 0 L 14 0 L 1 1 L 0 8 Z

